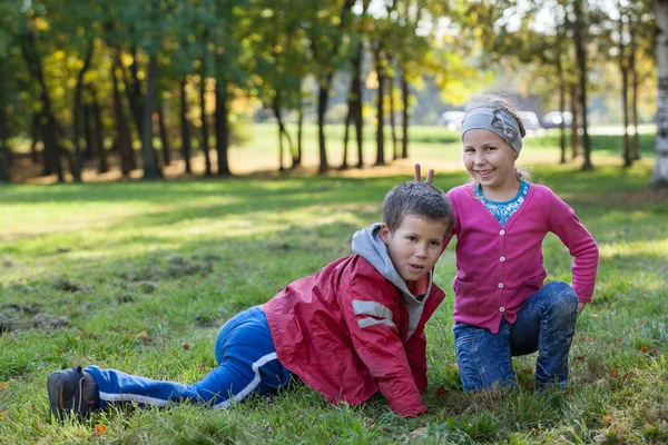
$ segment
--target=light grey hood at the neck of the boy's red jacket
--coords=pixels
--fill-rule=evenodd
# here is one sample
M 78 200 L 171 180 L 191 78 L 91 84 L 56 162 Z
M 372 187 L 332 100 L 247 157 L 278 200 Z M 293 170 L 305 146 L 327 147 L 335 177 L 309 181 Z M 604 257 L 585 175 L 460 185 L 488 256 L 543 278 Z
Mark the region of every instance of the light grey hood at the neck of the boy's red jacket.
M 366 259 L 371 265 L 379 271 L 383 277 L 390 280 L 394 286 L 396 286 L 402 294 L 403 301 L 406 305 L 406 309 L 409 309 L 409 337 L 415 332 L 418 324 L 420 322 L 420 317 L 422 316 L 422 309 L 424 308 L 424 303 L 429 297 L 432 287 L 432 273 L 429 271 L 429 284 L 426 286 L 426 294 L 422 301 L 420 301 L 406 286 L 405 281 L 401 278 L 392 260 L 390 259 L 390 255 L 387 254 L 387 246 L 381 239 L 381 227 L 382 222 L 375 222 L 371 225 L 371 227 L 364 228 L 362 230 L 357 230 L 355 235 L 353 235 L 353 251 L 364 259 Z

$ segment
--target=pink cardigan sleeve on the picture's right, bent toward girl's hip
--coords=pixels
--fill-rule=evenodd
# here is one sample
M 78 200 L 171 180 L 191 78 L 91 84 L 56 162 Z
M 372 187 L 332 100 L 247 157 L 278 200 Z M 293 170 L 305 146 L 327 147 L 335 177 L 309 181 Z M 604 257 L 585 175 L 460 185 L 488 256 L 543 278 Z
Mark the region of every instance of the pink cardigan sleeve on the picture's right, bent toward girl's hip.
M 561 239 L 573 257 L 573 289 L 582 303 L 591 303 L 598 270 L 599 249 L 572 208 L 557 195 L 550 206 L 550 231 Z

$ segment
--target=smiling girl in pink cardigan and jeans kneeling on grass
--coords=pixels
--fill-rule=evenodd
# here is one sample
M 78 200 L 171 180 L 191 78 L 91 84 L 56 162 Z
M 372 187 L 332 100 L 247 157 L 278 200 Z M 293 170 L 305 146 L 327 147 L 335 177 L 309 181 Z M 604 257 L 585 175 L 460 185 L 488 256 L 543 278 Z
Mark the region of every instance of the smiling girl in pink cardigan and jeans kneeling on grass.
M 537 350 L 537 388 L 566 387 L 576 319 L 593 294 L 597 244 L 566 202 L 515 168 L 524 135 L 521 119 L 499 97 L 470 106 L 462 122 L 473 184 L 448 192 L 455 220 L 445 245 L 456 235 L 453 330 L 466 392 L 515 385 L 511 357 Z M 543 285 L 548 231 L 574 258 L 572 287 Z

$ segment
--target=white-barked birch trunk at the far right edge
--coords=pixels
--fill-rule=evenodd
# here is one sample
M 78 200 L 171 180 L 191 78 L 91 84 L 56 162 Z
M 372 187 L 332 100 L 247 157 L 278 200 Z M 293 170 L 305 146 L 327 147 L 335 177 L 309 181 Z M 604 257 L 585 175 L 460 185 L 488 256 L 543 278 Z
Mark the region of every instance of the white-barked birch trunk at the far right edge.
M 656 0 L 655 6 L 659 91 L 657 97 L 656 162 L 652 185 L 668 187 L 668 0 Z

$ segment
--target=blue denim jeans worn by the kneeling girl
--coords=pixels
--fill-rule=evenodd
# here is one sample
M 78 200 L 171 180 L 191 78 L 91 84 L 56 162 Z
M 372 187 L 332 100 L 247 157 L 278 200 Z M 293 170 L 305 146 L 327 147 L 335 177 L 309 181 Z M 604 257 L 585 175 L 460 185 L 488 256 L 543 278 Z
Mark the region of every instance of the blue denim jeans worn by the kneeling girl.
M 512 356 L 538 350 L 536 387 L 568 383 L 568 353 L 578 318 L 578 296 L 562 281 L 549 283 L 529 298 L 514 324 L 501 318 L 499 333 L 458 323 L 456 360 L 465 392 L 517 384 Z

